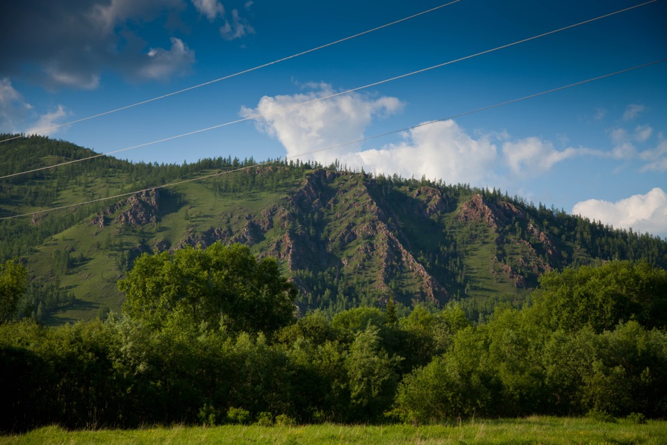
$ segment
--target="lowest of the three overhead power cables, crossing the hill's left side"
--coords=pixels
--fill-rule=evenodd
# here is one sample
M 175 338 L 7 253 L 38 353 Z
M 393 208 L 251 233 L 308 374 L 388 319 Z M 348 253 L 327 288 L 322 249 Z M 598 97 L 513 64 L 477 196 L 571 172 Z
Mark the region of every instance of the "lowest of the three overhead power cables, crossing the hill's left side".
M 293 156 L 286 156 L 285 160 L 296 159 L 296 158 L 300 158 L 302 156 L 307 156 L 308 154 L 324 152 L 325 150 L 330 150 L 330 149 L 334 149 L 334 148 L 338 148 L 338 147 L 343 147 L 345 145 L 361 143 L 361 142 L 364 142 L 366 140 L 377 139 L 377 138 L 381 138 L 383 136 L 388 136 L 390 134 L 400 133 L 402 131 L 407 131 L 407 130 L 415 129 L 415 128 L 418 128 L 418 127 L 426 127 L 427 125 L 432 125 L 432 124 L 435 124 L 436 122 L 443 122 L 445 120 L 460 118 L 461 116 L 470 115 L 470 114 L 473 114 L 473 113 L 479 113 L 480 111 L 490 110 L 491 108 L 497 108 L 499 106 L 514 104 L 516 102 L 520 102 L 520 101 L 523 101 L 523 100 L 526 100 L 526 99 L 532 99 L 534 97 L 547 95 L 551 92 L 557 92 L 557 91 L 565 90 L 566 88 L 572 88 L 572 87 L 575 87 L 575 86 L 583 85 L 584 83 L 598 81 L 600 79 L 607 79 L 607 77 L 617 76 L 618 74 L 624 74 L 624 73 L 627 73 L 627 72 L 630 72 L 630 71 L 639 70 L 640 68 L 644 68 L 644 67 L 648 67 L 648 66 L 651 66 L 651 65 L 656 65 L 658 63 L 664 63 L 664 62 L 667 62 L 667 58 L 662 58 L 660 60 L 654 60 L 653 62 L 644 63 L 643 65 L 636 65 L 632 68 L 627 68 L 625 70 L 620 70 L 620 71 L 612 72 L 612 73 L 609 73 L 609 74 L 604 74 L 602 76 L 593 77 L 591 79 L 586 79 L 585 81 L 570 83 L 566 86 L 559 86 L 558 88 L 552 88 L 550 90 L 545 90 L 545 91 L 542 91 L 542 92 L 536 92 L 532 95 L 519 97 L 518 99 L 511 99 L 511 100 L 508 100 L 508 101 L 505 101 L 505 102 L 500 102 L 500 103 L 497 103 L 497 104 L 488 105 L 488 106 L 484 106 L 484 107 L 481 107 L 481 108 L 476 108 L 475 110 L 466 111 L 466 112 L 455 114 L 455 115 L 450 115 L 450 116 L 447 116 L 447 118 L 440 118 L 440 119 L 436 119 L 436 120 L 431 120 L 429 122 L 423 122 L 421 124 L 413 125 L 411 127 L 405 127 L 405 128 L 400 129 L 400 130 L 388 131 L 386 133 L 377 134 L 375 136 L 369 136 L 368 138 L 353 140 L 353 141 L 343 143 L 343 144 L 332 145 L 331 147 L 312 150 L 311 152 L 304 152 L 304 153 L 301 153 L 301 154 L 295 154 Z M 239 172 L 239 171 L 242 171 L 242 170 L 249 170 L 251 168 L 257 168 L 257 167 L 261 167 L 263 165 L 270 165 L 272 163 L 274 163 L 274 161 L 267 161 L 267 162 L 258 163 L 258 164 L 255 164 L 255 165 L 248 165 L 247 167 L 236 168 L 234 170 L 225 170 L 224 172 L 213 173 L 212 175 L 204 175 L 204 176 L 200 176 L 200 177 L 196 177 L 196 178 L 183 179 L 181 181 L 170 182 L 169 184 L 163 184 L 161 186 L 143 188 L 142 190 L 138 190 L 138 191 L 121 193 L 120 195 L 101 197 L 97 200 L 78 202 L 76 204 L 68 204 L 66 206 L 53 207 L 51 209 L 44 209 L 44 210 L 40 210 L 40 211 L 34 211 L 34 212 L 31 212 L 31 213 L 22 213 L 20 215 L 5 216 L 3 218 L 0 218 L 0 221 L 1 220 L 13 219 L 13 218 L 21 218 L 21 217 L 24 217 L 24 216 L 34 216 L 34 215 L 39 215 L 41 213 L 49 213 L 51 211 L 56 211 L 56 210 L 69 209 L 69 208 L 72 208 L 72 207 L 79 207 L 79 206 L 82 206 L 82 205 L 85 205 L 85 204 L 94 204 L 95 202 L 101 202 L 101 201 L 106 201 L 106 200 L 114 200 L 114 199 L 117 199 L 119 197 L 131 196 L 131 195 L 136 195 L 138 193 L 157 190 L 158 188 L 174 187 L 174 186 L 179 186 L 181 184 L 187 184 L 188 182 L 201 181 L 201 180 L 204 180 L 204 179 L 211 179 L 213 177 L 219 177 L 219 176 L 222 176 L 222 175 L 229 175 L 230 173 L 233 173 L 233 172 Z

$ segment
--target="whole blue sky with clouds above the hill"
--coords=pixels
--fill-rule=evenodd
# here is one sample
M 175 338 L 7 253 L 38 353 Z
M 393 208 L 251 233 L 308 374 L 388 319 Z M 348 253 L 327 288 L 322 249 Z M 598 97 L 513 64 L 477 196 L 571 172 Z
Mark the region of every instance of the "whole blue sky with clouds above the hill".
M 338 159 L 667 238 L 667 62 L 464 114 L 667 58 L 667 0 L 518 44 L 643 1 L 460 0 L 288 58 L 446 3 L 4 1 L 0 132 L 108 153 L 217 127 L 115 156 Z

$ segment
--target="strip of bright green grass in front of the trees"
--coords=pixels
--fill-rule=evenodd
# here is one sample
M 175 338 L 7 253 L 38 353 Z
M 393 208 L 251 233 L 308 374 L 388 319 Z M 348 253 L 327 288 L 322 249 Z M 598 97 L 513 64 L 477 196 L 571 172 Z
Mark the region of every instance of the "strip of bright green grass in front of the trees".
M 67 431 L 55 426 L 2 436 L 0 444 L 666 444 L 667 422 L 533 416 L 443 426 L 218 426 Z

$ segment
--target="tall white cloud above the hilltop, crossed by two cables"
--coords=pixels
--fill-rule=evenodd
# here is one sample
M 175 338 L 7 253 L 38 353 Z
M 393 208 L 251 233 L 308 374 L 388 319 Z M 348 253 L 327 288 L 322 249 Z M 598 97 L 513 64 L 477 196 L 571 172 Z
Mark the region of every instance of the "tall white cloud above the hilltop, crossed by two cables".
M 256 118 L 259 129 L 277 138 L 287 150 L 288 156 L 296 156 L 313 150 L 348 143 L 364 137 L 364 129 L 376 116 L 396 113 L 402 103 L 395 97 L 375 98 L 371 95 L 348 93 L 322 99 L 303 106 L 295 106 L 334 94 L 327 83 L 309 84 L 313 91 L 296 95 L 262 97 L 256 108 L 242 107 L 240 114 Z M 295 106 L 284 111 L 281 108 Z M 359 149 L 358 144 L 347 145 L 304 156 L 323 164 L 329 164 L 343 155 Z

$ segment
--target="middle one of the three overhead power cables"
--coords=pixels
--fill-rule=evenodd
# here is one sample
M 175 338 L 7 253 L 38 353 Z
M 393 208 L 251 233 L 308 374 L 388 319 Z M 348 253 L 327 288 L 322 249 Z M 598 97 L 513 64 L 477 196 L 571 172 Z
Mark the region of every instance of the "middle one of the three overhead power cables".
M 572 25 L 564 26 L 563 28 L 554 29 L 553 31 L 548 31 L 547 33 L 542 33 L 542 34 L 539 34 L 539 35 L 534 35 L 533 37 L 525 38 L 525 39 L 522 39 L 522 40 L 516 40 L 516 42 L 512 42 L 512 43 L 504 44 L 504 45 L 501 45 L 500 47 L 495 47 L 495 48 L 493 48 L 493 49 L 487 49 L 486 51 L 481 51 L 481 52 L 479 52 L 479 53 L 471 54 L 470 56 L 465 56 L 465 57 L 457 58 L 457 59 L 450 60 L 450 61 L 448 61 L 448 62 L 444 62 L 444 63 L 438 63 L 438 65 L 433 65 L 433 66 L 431 66 L 431 67 L 423 68 L 422 70 L 417 70 L 417 71 L 409 72 L 409 73 L 406 73 L 406 74 L 401 74 L 400 76 L 391 77 L 390 79 L 385 79 L 385 80 L 383 80 L 383 81 L 377 81 L 377 82 L 374 82 L 374 83 L 369 83 L 368 85 L 360 86 L 360 87 L 357 87 L 357 88 L 352 88 L 352 89 L 349 89 L 349 90 L 344 90 L 344 91 L 340 91 L 340 92 L 335 92 L 335 93 L 332 93 L 331 95 L 322 96 L 322 97 L 316 97 L 315 99 L 311 99 L 311 100 L 308 100 L 308 101 L 305 101 L 305 102 L 299 102 L 298 104 L 293 104 L 293 105 L 290 105 L 290 106 L 285 106 L 285 107 L 283 107 L 283 108 L 277 108 L 277 109 L 272 110 L 272 111 L 267 111 L 266 113 L 258 113 L 258 114 L 252 115 L 252 116 L 248 116 L 248 117 L 246 117 L 246 118 L 241 118 L 241 119 L 233 120 L 233 121 L 230 121 L 230 122 L 225 122 L 224 124 L 214 125 L 213 127 L 207 127 L 207 128 L 199 129 L 199 130 L 195 130 L 195 131 L 189 131 L 188 133 L 181 133 L 181 134 L 176 135 L 176 136 L 170 136 L 170 137 L 168 137 L 168 138 L 163 138 L 163 139 L 153 140 L 153 141 L 151 141 L 151 142 L 147 142 L 147 143 L 143 143 L 143 144 L 139 144 L 139 145 L 133 145 L 132 147 L 126 147 L 126 148 L 122 148 L 122 149 L 117 149 L 117 150 L 115 150 L 115 151 L 113 151 L 113 152 L 106 152 L 106 153 L 96 154 L 96 155 L 94 155 L 94 156 L 88 156 L 88 157 L 86 157 L 86 158 L 73 159 L 72 161 L 67 161 L 67 162 L 58 163 L 58 164 L 54 164 L 54 165 L 47 165 L 46 167 L 35 168 L 35 169 L 33 169 L 33 170 L 26 170 L 26 171 L 24 171 L 24 172 L 13 173 L 12 175 L 0 176 L 0 179 L 5 179 L 5 178 L 8 178 L 8 177 L 15 177 L 15 176 L 19 176 L 19 175 L 26 175 L 27 173 L 39 172 L 39 171 L 42 171 L 42 170 L 49 170 L 49 169 L 51 169 L 51 168 L 60 167 L 60 166 L 62 166 L 62 165 L 69 165 L 69 164 L 72 164 L 72 163 L 78 163 L 78 162 L 81 162 L 81 161 L 88 161 L 89 159 L 95 159 L 95 158 L 99 158 L 99 157 L 101 157 L 101 156 L 108 156 L 108 155 L 110 155 L 110 154 L 117 154 L 117 153 L 121 153 L 121 152 L 126 152 L 126 151 L 131 150 L 131 149 L 137 149 L 137 148 L 140 148 L 140 147 L 147 147 L 148 145 L 154 145 L 154 144 L 157 144 L 157 143 L 163 143 L 163 142 L 167 142 L 168 140 L 174 140 L 174 139 L 178 139 L 178 138 L 183 138 L 183 137 L 185 137 L 185 136 L 192 136 L 193 134 L 197 134 L 197 133 L 203 133 L 204 131 L 211 131 L 211 130 L 213 130 L 213 129 L 218 129 L 218 128 L 222 128 L 222 127 L 227 127 L 227 126 L 229 126 L 229 125 L 232 125 L 232 124 L 238 124 L 239 122 L 245 122 L 245 121 L 247 121 L 247 120 L 253 120 L 253 119 L 257 119 L 257 118 L 263 118 L 264 116 L 272 115 L 272 114 L 275 114 L 275 113 L 280 113 L 281 111 L 288 111 L 288 110 L 291 110 L 291 109 L 293 109 L 293 108 L 297 108 L 297 107 L 299 107 L 299 106 L 304 106 L 304 105 L 308 105 L 308 104 L 313 104 L 313 103 L 315 103 L 315 102 L 320 102 L 320 101 L 323 101 L 323 100 L 326 100 L 326 99 L 331 99 L 332 97 L 336 97 L 336 96 L 340 96 L 340 95 L 346 95 L 346 94 L 349 94 L 349 93 L 351 93 L 351 92 L 356 92 L 356 91 L 359 91 L 359 90 L 363 90 L 363 89 L 365 89 L 365 88 L 370 88 L 370 87 L 373 87 L 373 86 L 378 86 L 378 85 L 381 85 L 381 84 L 383 84 L 383 83 L 388 83 L 388 82 L 395 81 L 395 80 L 398 80 L 398 79 L 404 79 L 405 77 L 413 76 L 413 75 L 415 75 L 415 74 L 420 74 L 420 73 L 422 73 L 422 72 L 427 72 L 427 71 L 430 71 L 430 70 L 435 70 L 436 68 L 440 68 L 440 67 L 443 67 L 443 66 L 445 66 L 445 65 L 452 65 L 453 63 L 461 62 L 461 61 L 463 61 L 463 60 L 468 60 L 468 59 L 470 59 L 470 58 L 474 58 L 474 57 L 477 57 L 477 56 L 482 56 L 482 55 L 484 55 L 484 54 L 489 54 L 489 53 L 492 53 L 492 52 L 494 52 L 494 51 L 499 51 L 500 49 L 505 49 L 505 48 L 513 47 L 514 45 L 517 45 L 517 44 L 520 44 L 520 43 L 529 42 L 529 41 L 531 41 L 531 40 L 535 40 L 535 39 L 538 39 L 538 38 L 542 38 L 542 37 L 545 37 L 545 36 L 547 36 L 547 35 L 551 35 L 551 34 L 554 34 L 554 33 L 559 33 L 559 32 L 561 32 L 561 31 L 566 31 L 567 29 L 575 28 L 576 26 L 581 26 L 581 25 L 583 25 L 583 24 L 588 24 L 588 23 L 591 23 L 591 22 L 595 22 L 596 20 L 604 19 L 604 18 L 606 18 L 606 17 L 611 17 L 612 15 L 616 15 L 616 14 L 624 13 L 624 12 L 626 12 L 626 11 L 628 11 L 628 10 L 632 10 L 632 9 L 634 9 L 634 8 L 639 8 L 639 7 L 641 7 L 641 6 L 648 5 L 649 3 L 654 3 L 655 1 L 657 1 L 657 0 L 650 0 L 650 1 L 647 1 L 647 2 L 645 2 L 645 3 L 641 3 L 641 4 L 639 4 L 639 5 L 630 6 L 629 8 L 625 8 L 625 9 L 617 10 L 617 11 L 615 11 L 614 13 L 609 13 L 609 14 L 605 14 L 605 15 L 600 15 L 599 17 L 595 17 L 595 18 L 593 18 L 593 19 L 584 20 L 584 22 L 579 22 L 579 23 L 575 23 L 575 24 L 572 24 Z

